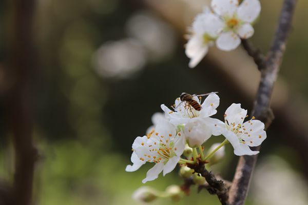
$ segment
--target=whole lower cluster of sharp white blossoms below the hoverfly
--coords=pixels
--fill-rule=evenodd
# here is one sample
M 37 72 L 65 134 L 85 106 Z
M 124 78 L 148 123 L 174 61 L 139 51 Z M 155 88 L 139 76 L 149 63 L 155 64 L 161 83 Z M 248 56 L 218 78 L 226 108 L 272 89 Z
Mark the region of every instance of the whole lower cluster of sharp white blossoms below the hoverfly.
M 263 122 L 255 117 L 245 120 L 248 117 L 247 110 L 242 109 L 240 104 L 232 104 L 227 108 L 223 121 L 213 118 L 219 102 L 219 96 L 210 93 L 203 102 L 197 95 L 191 95 L 189 101 L 177 98 L 172 110 L 161 105 L 164 113 L 154 114 L 153 126 L 147 130 L 146 135 L 134 140 L 132 165 L 128 165 L 126 171 L 133 172 L 146 162 L 153 163 L 154 166 L 142 180 L 145 183 L 158 178 L 161 172 L 165 176 L 177 164 L 214 164 L 214 158 L 223 157 L 221 151 L 228 143 L 233 146 L 236 155 L 258 154 L 258 151 L 252 151 L 249 147 L 261 145 L 266 138 Z M 196 110 L 194 105 L 201 108 Z M 219 145 L 213 145 L 205 155 L 204 142 L 211 136 L 219 135 L 223 135 L 225 140 Z M 213 157 L 215 155 L 217 156 Z

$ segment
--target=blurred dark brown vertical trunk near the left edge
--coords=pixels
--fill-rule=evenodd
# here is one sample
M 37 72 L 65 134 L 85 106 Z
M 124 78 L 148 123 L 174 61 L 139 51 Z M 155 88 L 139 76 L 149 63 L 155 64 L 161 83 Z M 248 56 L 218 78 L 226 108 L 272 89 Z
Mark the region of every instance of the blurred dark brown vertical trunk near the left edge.
M 11 2 L 12 27 L 9 36 L 10 80 L 6 106 L 15 151 L 12 203 L 32 203 L 32 181 L 37 151 L 33 146 L 32 86 L 34 73 L 33 13 L 34 0 Z

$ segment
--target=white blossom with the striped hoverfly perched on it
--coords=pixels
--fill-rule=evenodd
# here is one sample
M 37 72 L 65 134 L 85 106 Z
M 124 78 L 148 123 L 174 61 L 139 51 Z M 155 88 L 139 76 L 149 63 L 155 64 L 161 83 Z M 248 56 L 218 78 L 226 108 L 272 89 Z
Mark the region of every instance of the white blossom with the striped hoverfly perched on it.
M 198 96 L 193 97 L 197 103 L 201 104 Z M 214 125 L 219 122 L 218 119 L 209 116 L 217 113 L 219 106 L 219 97 L 217 94 L 209 94 L 203 103 L 200 111 L 195 110 L 185 101 L 177 98 L 174 105 L 174 111 L 171 111 L 165 105 L 161 105 L 166 118 L 175 126 L 184 125 L 184 134 L 190 147 L 201 146 L 212 134 L 216 135 Z

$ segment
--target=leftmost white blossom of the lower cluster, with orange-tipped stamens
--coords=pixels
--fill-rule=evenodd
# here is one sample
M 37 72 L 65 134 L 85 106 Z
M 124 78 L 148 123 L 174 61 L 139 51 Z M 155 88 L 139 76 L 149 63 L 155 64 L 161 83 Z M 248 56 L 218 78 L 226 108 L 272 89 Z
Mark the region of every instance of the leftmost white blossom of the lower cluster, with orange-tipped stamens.
M 148 161 L 156 165 L 147 172 L 146 178 L 142 180 L 143 183 L 156 179 L 161 172 L 165 176 L 175 169 L 184 148 L 183 132 L 177 133 L 176 127 L 168 121 L 159 123 L 147 136 L 137 137 L 134 140 L 131 155 L 133 165 L 128 165 L 126 171 L 136 171 Z

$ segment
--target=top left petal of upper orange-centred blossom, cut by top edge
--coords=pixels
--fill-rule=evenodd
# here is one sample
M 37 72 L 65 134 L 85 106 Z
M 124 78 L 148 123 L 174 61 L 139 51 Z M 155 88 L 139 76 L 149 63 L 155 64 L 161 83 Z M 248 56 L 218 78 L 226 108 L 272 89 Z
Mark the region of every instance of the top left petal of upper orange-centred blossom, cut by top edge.
M 213 0 L 211 7 L 220 16 L 232 17 L 238 7 L 238 0 Z

